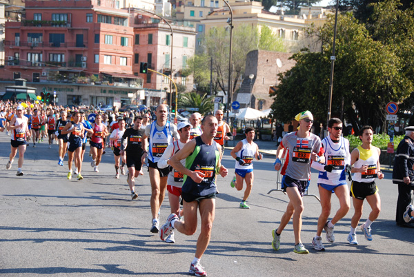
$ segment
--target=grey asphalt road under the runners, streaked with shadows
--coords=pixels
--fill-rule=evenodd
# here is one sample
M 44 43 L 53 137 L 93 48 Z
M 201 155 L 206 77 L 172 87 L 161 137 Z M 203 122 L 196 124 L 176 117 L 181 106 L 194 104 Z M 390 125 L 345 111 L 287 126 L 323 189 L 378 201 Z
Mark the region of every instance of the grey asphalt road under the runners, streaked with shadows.
M 177 243 L 164 243 L 150 233 L 148 173 L 138 178 L 138 201 L 130 200 L 126 177 L 115 179 L 113 156 L 103 156 L 99 173 L 90 158 L 83 163 L 83 181 L 66 179 L 67 164 L 57 165 L 57 145 L 41 143 L 26 152 L 24 176 L 5 165 L 10 139 L 0 133 L 0 274 L 4 276 L 182 276 L 188 274 L 199 231 L 176 234 Z M 293 252 L 293 227 L 282 233 L 275 252 L 271 230 L 286 209 L 288 197 L 275 188 L 274 158 L 255 161 L 255 183 L 250 209 L 239 209 L 243 192 L 230 187 L 234 160 L 226 150 L 230 174 L 219 178 L 216 218 L 210 245 L 201 264 L 208 276 L 412 276 L 414 229 L 395 225 L 397 187 L 391 173 L 378 181 L 382 212 L 373 223 L 373 241 L 357 231 L 359 245 L 348 245 L 353 207 L 335 226 L 335 243 L 322 239 L 325 252 L 311 247 L 320 205 L 305 197 L 302 240 L 308 255 Z M 317 194 L 313 173 L 311 193 Z M 362 216 L 370 208 L 366 203 Z M 333 196 L 333 213 L 338 201 Z M 168 198 L 161 207 L 161 223 L 170 214 Z

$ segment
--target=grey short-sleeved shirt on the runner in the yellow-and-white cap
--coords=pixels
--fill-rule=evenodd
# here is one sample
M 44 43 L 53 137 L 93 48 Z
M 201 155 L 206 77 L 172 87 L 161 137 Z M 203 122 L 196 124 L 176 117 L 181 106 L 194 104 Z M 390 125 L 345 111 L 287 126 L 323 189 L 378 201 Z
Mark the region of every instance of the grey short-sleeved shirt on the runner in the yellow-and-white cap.
M 306 138 L 298 138 L 297 132 L 290 132 L 283 137 L 281 145 L 288 149 L 286 175 L 298 181 L 308 181 L 311 177 L 312 152 L 318 156 L 324 154 L 319 136 L 309 133 Z

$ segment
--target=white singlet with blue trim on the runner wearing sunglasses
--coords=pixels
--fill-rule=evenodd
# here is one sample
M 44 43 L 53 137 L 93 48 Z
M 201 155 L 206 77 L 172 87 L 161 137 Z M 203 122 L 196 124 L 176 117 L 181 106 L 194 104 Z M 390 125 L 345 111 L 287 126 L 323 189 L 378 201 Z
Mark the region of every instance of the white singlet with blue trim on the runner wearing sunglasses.
M 325 152 L 326 165 L 332 165 L 332 172 L 319 172 L 317 183 L 326 185 L 346 185 L 345 165 L 351 163 L 349 154 L 349 141 L 344 137 L 339 138 L 339 143 L 334 143 L 331 136 L 322 140 Z

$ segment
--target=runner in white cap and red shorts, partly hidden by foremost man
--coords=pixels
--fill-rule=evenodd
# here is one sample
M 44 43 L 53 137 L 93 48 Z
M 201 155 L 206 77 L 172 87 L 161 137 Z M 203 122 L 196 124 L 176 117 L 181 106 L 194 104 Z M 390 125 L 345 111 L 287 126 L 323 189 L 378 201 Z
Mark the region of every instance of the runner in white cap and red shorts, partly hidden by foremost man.
M 180 149 L 184 147 L 188 141 L 190 141 L 190 129 L 191 125 L 190 123 L 183 121 L 178 123 L 177 130 L 179 133 L 179 140 L 174 141 L 174 143 L 168 145 L 166 151 L 164 154 L 162 154 L 161 158 L 158 161 L 158 167 L 159 168 L 165 168 L 168 167 L 170 158 L 177 153 Z M 180 163 L 185 166 L 186 160 L 182 159 Z M 180 215 L 179 210 L 179 198 L 181 196 L 181 187 L 183 186 L 183 179 L 184 176 L 182 173 L 177 172 L 177 170 L 170 171 L 170 174 L 168 174 L 167 179 L 167 190 L 168 190 L 168 200 L 170 201 L 170 207 L 171 207 L 171 214 L 177 214 L 178 217 L 182 216 L 182 210 Z M 174 232 L 171 232 L 171 234 L 166 238 L 167 243 L 175 243 L 174 238 Z

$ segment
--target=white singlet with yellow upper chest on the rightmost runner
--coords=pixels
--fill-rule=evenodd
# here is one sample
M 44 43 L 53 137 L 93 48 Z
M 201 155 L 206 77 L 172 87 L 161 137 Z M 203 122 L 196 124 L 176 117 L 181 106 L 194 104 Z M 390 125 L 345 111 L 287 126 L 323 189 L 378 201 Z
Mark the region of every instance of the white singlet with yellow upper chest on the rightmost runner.
M 358 146 L 359 151 L 358 161 L 355 161 L 353 167 L 362 167 L 362 165 L 368 165 L 368 170 L 364 173 L 355 172 L 352 176 L 353 181 L 360 183 L 371 183 L 377 178 L 377 163 L 380 156 L 376 147 L 371 147 L 370 150 Z

